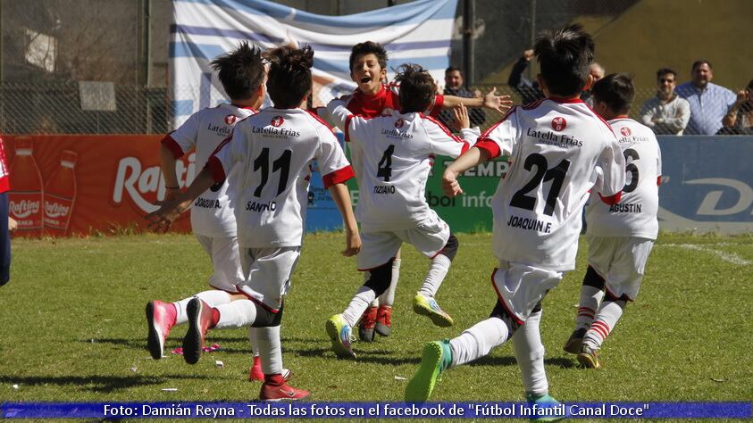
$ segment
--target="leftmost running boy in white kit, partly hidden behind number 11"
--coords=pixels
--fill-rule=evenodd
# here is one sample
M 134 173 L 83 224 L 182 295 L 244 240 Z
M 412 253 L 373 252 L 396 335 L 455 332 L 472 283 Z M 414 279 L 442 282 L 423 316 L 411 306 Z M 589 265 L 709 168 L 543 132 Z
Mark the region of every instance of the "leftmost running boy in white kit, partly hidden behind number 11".
M 206 108 L 191 115 L 179 129 L 163 138 L 160 159 L 165 180 L 165 198 L 174 199 L 180 193 L 175 163 L 190 150 L 196 148 L 196 162 L 206 163 L 214 149 L 230 136 L 239 120 L 251 116 L 264 102 L 264 79 L 266 71 L 261 51 L 242 42 L 230 54 L 223 54 L 212 61 L 218 72 L 230 104 Z M 191 207 L 191 228 L 199 244 L 209 254 L 213 275 L 209 286 L 213 289 L 196 296 L 212 305 L 229 303 L 238 294 L 236 285 L 245 280 L 238 255 L 238 239 L 233 210 L 238 185 L 238 169 L 230 171 L 229 177 L 215 184 L 200 195 Z M 174 303 L 159 300 L 146 304 L 148 335 L 146 344 L 155 360 L 162 358 L 164 341 L 175 325 L 188 322 L 186 307 L 193 297 Z M 252 349 L 260 341 L 258 336 L 274 344 L 280 343 L 280 334 L 274 328 L 250 328 L 249 340 Z M 255 351 L 255 350 L 254 350 Z M 289 376 L 286 369 L 283 374 Z M 249 379 L 264 380 L 261 361 L 254 354 L 249 370 Z

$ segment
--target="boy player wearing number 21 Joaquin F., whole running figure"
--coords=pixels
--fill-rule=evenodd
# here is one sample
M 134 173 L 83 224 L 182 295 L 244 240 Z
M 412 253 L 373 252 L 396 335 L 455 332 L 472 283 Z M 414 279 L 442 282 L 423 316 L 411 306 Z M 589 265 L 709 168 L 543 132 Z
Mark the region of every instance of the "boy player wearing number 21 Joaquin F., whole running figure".
M 442 177 L 445 194 L 459 195 L 457 178 L 465 170 L 499 155 L 513 159 L 492 200 L 497 304 L 489 319 L 460 336 L 424 346 L 406 386 L 408 402 L 428 400 L 446 369 L 476 360 L 511 337 L 528 401 L 540 407 L 555 402 L 544 371 L 540 302 L 575 265 L 581 210 L 591 187 L 607 203 L 619 200 L 624 161 L 612 130 L 579 98 L 592 81 L 590 35 L 570 25 L 544 34 L 534 51 L 547 98 L 510 110 Z

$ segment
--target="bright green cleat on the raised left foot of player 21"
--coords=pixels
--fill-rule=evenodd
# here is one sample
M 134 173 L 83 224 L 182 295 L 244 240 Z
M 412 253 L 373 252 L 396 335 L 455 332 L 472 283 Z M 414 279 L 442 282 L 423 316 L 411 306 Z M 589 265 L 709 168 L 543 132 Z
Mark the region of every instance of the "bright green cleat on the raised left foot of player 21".
M 421 365 L 406 386 L 406 402 L 426 402 L 439 376 L 452 362 L 449 341 L 433 341 L 423 346 Z

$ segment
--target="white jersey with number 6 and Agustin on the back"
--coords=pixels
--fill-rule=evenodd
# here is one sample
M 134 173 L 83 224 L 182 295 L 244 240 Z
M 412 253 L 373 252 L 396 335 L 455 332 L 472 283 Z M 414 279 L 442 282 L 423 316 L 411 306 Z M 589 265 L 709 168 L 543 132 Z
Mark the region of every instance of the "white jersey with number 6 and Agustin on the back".
M 606 204 L 591 194 L 586 231 L 592 236 L 657 239 L 662 153 L 654 132 L 632 119 L 609 120 L 625 158 L 625 186 L 619 203 Z

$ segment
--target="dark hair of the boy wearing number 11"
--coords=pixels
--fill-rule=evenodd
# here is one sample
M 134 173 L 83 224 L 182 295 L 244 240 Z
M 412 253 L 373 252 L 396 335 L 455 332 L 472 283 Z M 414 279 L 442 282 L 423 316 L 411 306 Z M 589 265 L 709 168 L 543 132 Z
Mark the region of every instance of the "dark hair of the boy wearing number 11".
M 272 104 L 278 109 L 298 107 L 311 91 L 314 50 L 311 46 L 277 46 L 267 52 L 267 57 L 270 61 L 267 92 Z

